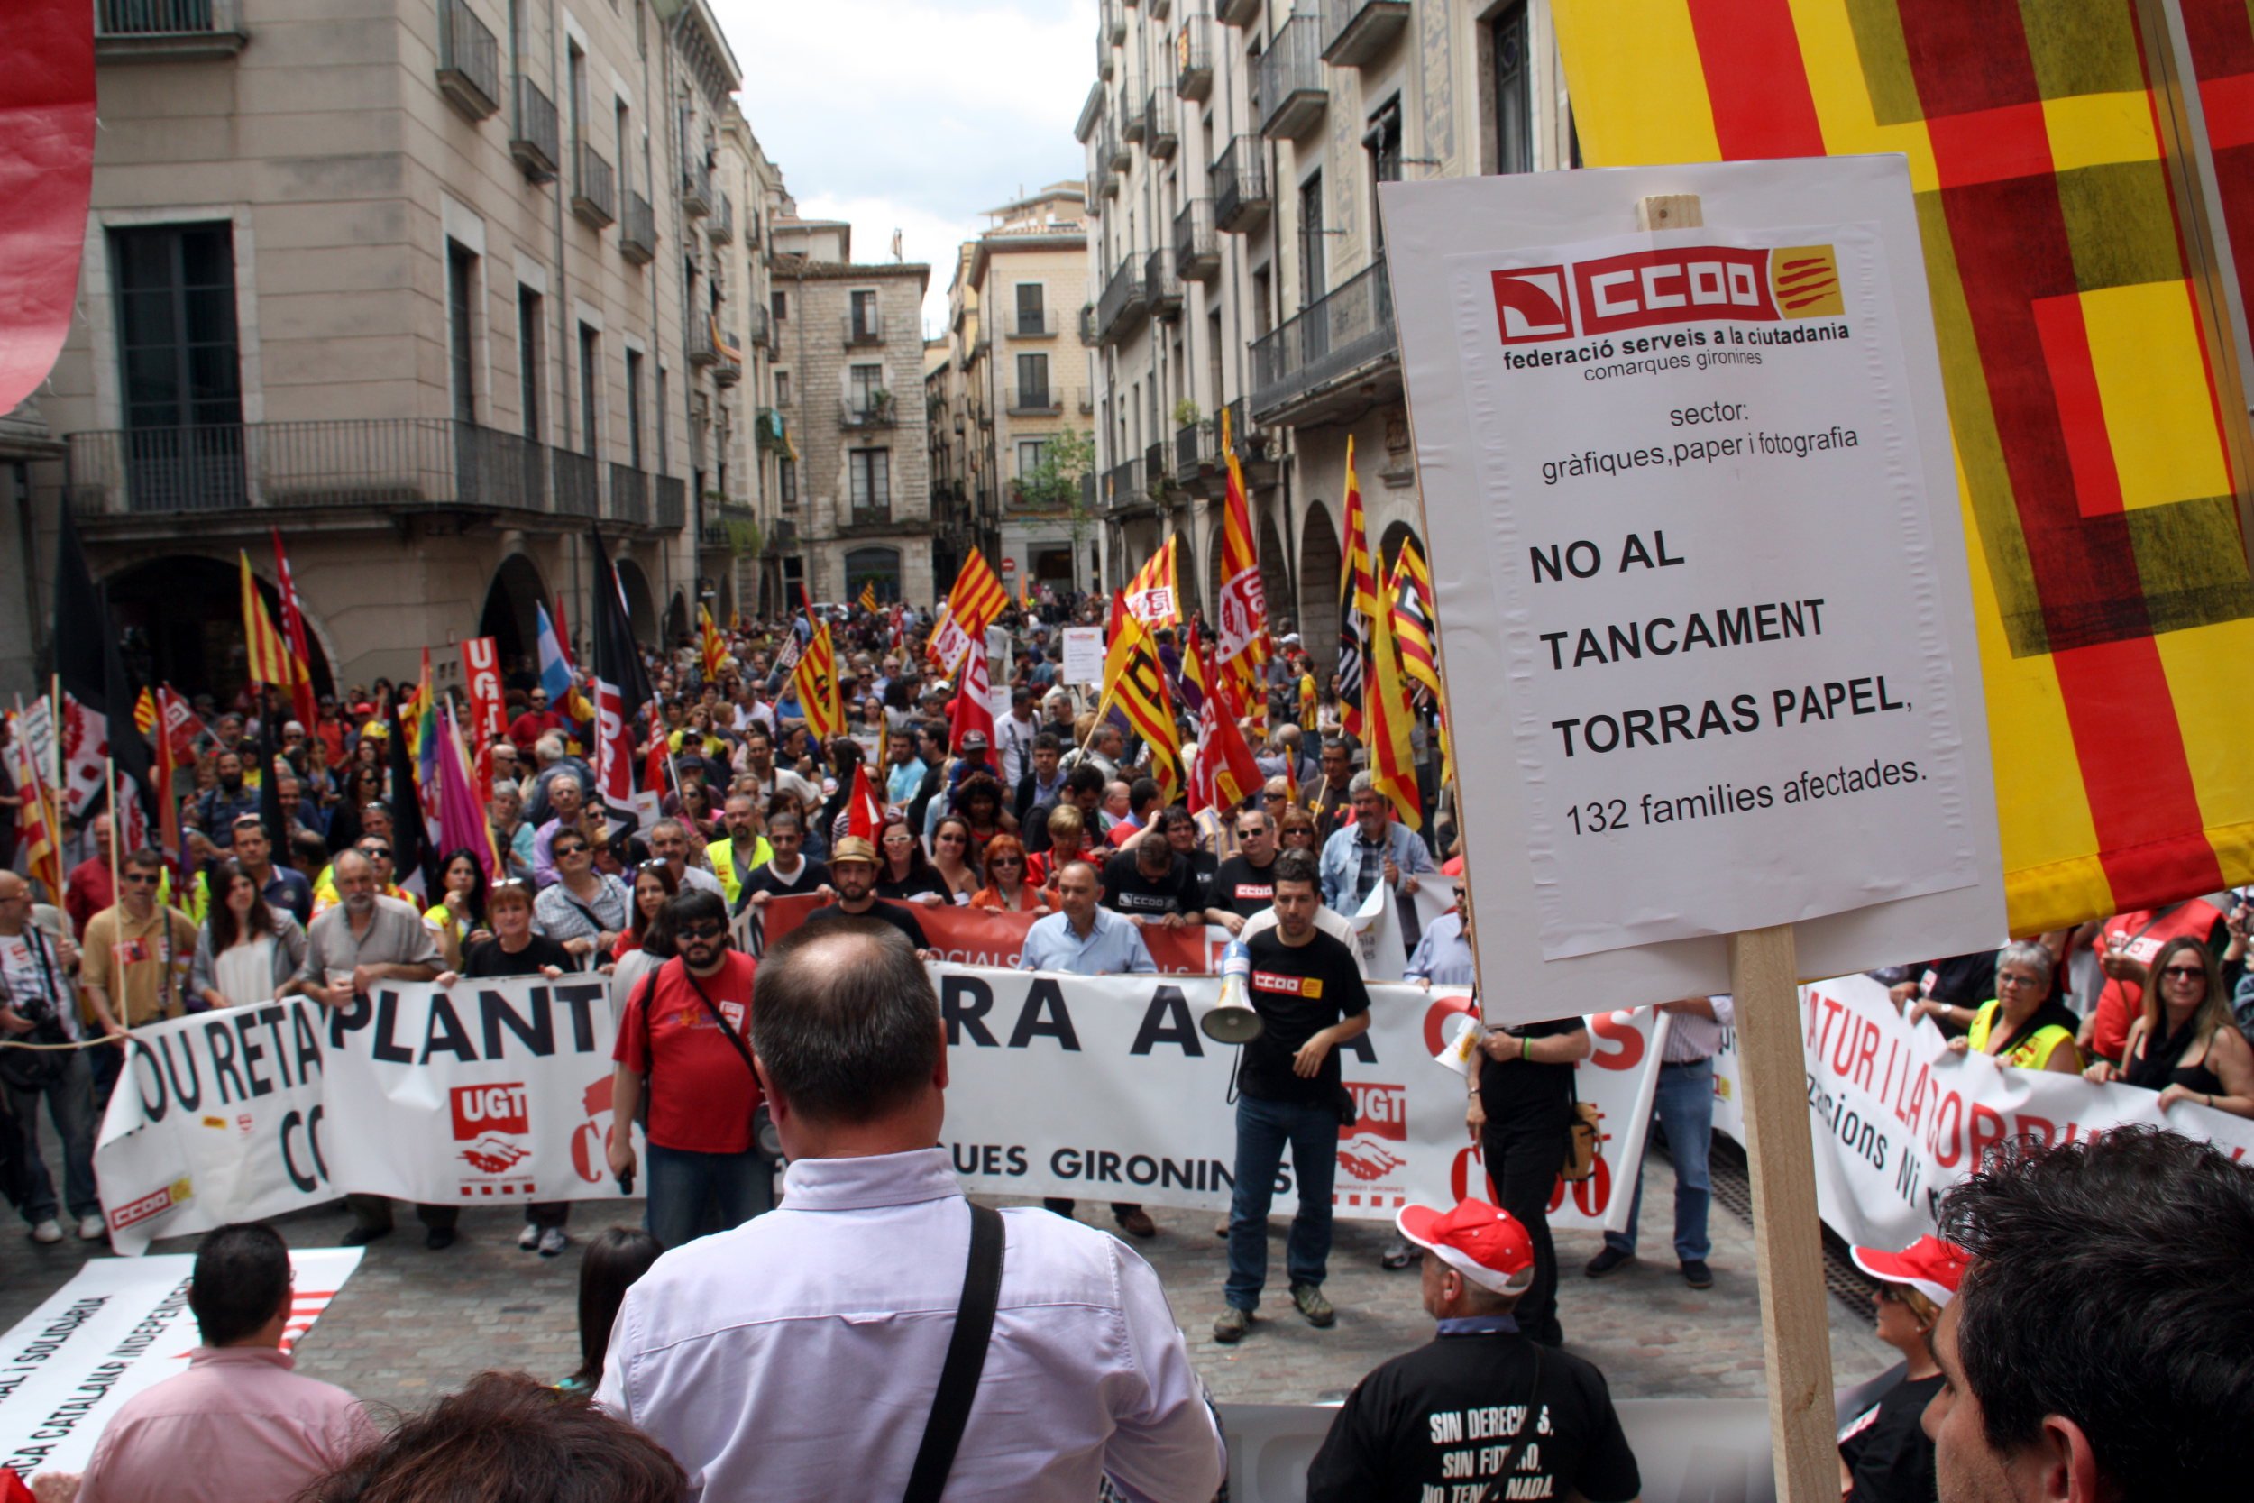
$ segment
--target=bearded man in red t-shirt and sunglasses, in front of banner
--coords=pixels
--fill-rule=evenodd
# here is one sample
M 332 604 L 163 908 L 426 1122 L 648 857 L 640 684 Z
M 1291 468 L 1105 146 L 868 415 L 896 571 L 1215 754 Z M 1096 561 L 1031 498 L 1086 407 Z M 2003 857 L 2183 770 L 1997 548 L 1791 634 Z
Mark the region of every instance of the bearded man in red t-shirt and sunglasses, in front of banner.
M 683 890 L 665 904 L 678 955 L 645 976 L 618 1023 L 611 1120 L 631 1122 L 649 1093 L 649 1208 L 660 1246 L 721 1233 L 775 1208 L 775 1160 L 760 1151 L 751 1068 L 751 976 L 757 962 L 728 946 L 719 892 Z M 611 1172 L 633 1174 L 633 1136 L 611 1136 Z

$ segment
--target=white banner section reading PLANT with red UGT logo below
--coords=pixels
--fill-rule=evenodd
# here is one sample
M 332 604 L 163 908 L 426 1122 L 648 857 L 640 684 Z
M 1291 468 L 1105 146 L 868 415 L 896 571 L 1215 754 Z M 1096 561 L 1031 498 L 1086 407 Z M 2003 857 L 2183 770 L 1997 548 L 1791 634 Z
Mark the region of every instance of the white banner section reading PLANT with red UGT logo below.
M 602 976 L 383 982 L 322 1028 L 343 1190 L 424 1203 L 618 1199 Z

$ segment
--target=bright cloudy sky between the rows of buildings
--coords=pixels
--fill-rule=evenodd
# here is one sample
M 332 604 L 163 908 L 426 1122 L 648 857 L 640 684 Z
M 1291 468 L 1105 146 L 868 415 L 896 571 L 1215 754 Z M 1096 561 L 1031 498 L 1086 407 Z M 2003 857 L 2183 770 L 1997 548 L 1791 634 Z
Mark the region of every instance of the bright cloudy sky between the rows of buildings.
M 807 219 L 852 221 L 857 261 L 931 264 L 985 210 L 1086 171 L 1073 122 L 1095 81 L 1095 0 L 710 0 L 744 68 L 744 119 Z

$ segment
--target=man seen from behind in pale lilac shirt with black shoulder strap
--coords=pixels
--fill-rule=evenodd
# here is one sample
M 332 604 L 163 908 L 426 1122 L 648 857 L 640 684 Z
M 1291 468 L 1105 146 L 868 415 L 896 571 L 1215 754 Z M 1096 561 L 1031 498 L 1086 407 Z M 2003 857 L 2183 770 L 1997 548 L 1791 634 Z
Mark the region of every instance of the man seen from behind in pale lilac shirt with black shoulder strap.
M 906 1489 L 962 1305 L 971 1208 L 944 1142 L 947 1034 L 888 924 L 769 946 L 753 1055 L 787 1199 L 651 1266 L 595 1402 L 658 1440 L 692 1498 Z M 1210 1498 L 1222 1442 L 1159 1275 L 1116 1237 L 1001 1212 L 1001 1293 L 949 1503 Z M 843 1467 L 843 1469 L 841 1469 Z

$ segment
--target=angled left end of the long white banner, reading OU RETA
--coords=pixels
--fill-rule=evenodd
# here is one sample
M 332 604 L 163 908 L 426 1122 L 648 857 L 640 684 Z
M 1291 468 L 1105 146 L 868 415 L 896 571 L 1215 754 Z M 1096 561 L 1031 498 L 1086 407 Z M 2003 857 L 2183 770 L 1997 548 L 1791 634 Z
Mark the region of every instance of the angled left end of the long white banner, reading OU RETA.
M 320 1007 L 228 1007 L 133 1030 L 95 1179 L 110 1246 L 257 1221 L 340 1194 L 322 1154 Z

